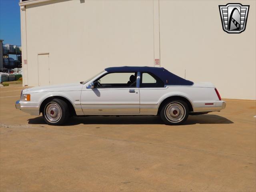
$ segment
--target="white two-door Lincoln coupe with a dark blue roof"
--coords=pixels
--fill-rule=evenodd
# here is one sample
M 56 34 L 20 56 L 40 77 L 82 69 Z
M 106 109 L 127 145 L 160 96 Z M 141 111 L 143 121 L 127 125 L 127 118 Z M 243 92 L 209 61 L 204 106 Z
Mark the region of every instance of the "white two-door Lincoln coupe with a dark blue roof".
M 22 90 L 16 108 L 40 115 L 49 125 L 61 125 L 71 116 L 160 115 L 176 125 L 188 115 L 226 107 L 212 83 L 193 83 L 157 67 L 110 67 L 76 84 Z

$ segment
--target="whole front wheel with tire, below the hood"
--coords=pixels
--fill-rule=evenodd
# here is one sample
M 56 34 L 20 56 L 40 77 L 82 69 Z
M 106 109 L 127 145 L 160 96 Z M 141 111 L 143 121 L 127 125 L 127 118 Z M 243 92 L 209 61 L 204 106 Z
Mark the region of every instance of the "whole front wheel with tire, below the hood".
M 44 106 L 43 117 L 48 125 L 62 125 L 69 117 L 68 104 L 61 99 L 53 99 Z

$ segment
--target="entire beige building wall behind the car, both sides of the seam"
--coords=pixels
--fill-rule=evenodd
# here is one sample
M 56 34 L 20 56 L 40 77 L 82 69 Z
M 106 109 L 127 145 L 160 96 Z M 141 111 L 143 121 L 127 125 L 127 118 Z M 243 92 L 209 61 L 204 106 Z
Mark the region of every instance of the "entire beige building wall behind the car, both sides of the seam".
M 240 2 L 250 5 L 241 34 L 222 30 L 218 5 L 227 1 L 22 2 L 27 85 L 38 85 L 38 54 L 49 53 L 50 84 L 80 82 L 109 66 L 154 66 L 160 58 L 174 74 L 186 70 L 188 80 L 214 83 L 223 98 L 256 99 L 255 2 Z

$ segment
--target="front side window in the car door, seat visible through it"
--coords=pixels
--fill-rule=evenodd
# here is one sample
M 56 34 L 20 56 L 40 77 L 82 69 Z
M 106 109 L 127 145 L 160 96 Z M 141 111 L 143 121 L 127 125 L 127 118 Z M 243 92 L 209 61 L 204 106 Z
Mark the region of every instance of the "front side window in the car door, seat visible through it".
M 96 84 L 97 88 L 122 88 L 136 87 L 137 72 L 108 73 L 100 77 Z

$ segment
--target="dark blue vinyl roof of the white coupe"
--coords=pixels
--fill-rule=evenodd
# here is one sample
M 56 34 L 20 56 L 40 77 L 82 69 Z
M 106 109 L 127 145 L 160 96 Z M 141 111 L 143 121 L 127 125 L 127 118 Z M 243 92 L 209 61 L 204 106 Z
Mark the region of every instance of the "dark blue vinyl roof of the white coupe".
M 107 72 L 150 72 L 158 76 L 165 85 L 193 85 L 192 81 L 183 79 L 162 67 L 109 67 Z

